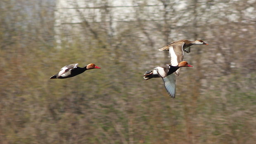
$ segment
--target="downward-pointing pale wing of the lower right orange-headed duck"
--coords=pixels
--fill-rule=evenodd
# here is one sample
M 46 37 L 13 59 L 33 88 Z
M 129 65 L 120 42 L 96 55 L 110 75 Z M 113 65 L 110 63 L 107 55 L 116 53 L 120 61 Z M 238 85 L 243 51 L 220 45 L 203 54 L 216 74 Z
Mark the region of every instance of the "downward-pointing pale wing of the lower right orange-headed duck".
M 164 81 L 164 87 L 168 94 L 175 98 L 175 74 L 170 74 L 167 77 L 162 78 Z

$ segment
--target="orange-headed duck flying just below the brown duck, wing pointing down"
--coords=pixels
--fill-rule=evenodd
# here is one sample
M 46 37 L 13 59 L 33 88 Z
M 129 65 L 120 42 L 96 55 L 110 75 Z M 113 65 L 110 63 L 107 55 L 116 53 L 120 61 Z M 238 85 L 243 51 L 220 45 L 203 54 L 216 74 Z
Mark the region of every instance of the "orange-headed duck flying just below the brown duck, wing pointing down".
M 178 70 L 180 67 L 193 67 L 192 65 L 189 65 L 186 61 L 180 62 L 177 66 L 172 65 L 161 65 L 159 67 L 155 67 L 151 71 L 145 72 L 143 75 L 144 79 L 152 79 L 161 77 L 164 81 L 164 86 L 166 88 L 166 91 L 169 93 L 169 95 L 172 98 L 175 98 L 175 75 L 173 72 Z

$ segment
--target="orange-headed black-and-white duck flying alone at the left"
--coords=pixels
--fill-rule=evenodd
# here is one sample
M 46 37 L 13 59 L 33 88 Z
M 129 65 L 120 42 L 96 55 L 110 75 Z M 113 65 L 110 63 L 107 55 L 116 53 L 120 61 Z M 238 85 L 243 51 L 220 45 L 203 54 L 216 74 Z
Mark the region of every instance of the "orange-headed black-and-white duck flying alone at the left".
M 60 69 L 59 73 L 53 75 L 52 77 L 50 77 L 50 79 L 66 79 L 66 78 L 74 77 L 78 74 L 81 74 L 81 73 L 85 72 L 85 70 L 100 68 L 92 63 L 85 67 L 78 67 L 77 65 L 78 65 L 78 63 L 74 63 L 71 65 L 66 65 L 66 66 L 62 67 L 62 69 Z

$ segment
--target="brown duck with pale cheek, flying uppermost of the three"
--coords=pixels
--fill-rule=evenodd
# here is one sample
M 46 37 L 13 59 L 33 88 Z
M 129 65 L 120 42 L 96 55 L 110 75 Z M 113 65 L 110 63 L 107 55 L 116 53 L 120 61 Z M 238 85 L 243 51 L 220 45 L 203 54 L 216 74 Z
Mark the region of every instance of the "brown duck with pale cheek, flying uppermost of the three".
M 175 42 L 171 42 L 170 44 L 167 44 L 166 46 L 164 46 L 158 50 L 159 51 L 169 51 L 170 56 L 171 56 L 171 65 L 176 66 L 183 60 L 184 51 L 189 53 L 190 46 L 192 46 L 194 44 L 206 44 L 206 43 L 202 40 L 196 40 L 196 41 L 192 42 L 187 39 L 180 39 Z M 208 44 L 206 44 L 206 45 L 208 45 Z M 179 75 L 179 72 L 180 72 L 180 69 L 176 70 L 175 74 Z

